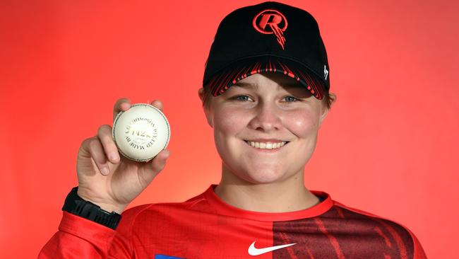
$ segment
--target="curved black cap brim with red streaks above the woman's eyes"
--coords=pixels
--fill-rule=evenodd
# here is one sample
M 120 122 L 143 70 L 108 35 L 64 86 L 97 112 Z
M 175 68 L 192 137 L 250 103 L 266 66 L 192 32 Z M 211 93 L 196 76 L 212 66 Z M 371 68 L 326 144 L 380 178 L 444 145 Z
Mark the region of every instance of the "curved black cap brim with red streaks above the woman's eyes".
M 210 92 L 213 96 L 218 96 L 224 93 L 227 88 L 236 84 L 237 81 L 261 72 L 285 74 L 299 81 L 299 83 L 306 87 L 318 100 L 322 100 L 323 96 L 325 96 L 326 87 L 321 79 L 308 73 L 301 64 L 277 57 L 239 61 L 237 64 L 233 64 L 220 73 L 215 74 L 215 76 L 209 80 L 206 87 L 210 88 Z

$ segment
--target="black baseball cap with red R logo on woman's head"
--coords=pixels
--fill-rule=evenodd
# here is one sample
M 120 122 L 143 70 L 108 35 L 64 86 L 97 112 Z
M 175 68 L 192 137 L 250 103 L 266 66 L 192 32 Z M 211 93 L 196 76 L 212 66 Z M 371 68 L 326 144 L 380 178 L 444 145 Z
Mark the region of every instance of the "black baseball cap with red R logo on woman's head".
M 263 71 L 296 79 L 319 100 L 329 91 L 327 53 L 310 13 L 268 1 L 223 18 L 205 62 L 203 86 L 218 96 Z

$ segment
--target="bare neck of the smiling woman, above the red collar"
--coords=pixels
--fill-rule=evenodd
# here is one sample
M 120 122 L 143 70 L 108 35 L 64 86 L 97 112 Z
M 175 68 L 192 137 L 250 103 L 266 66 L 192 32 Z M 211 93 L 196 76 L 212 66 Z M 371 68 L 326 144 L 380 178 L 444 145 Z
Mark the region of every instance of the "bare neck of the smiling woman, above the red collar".
M 304 172 L 273 183 L 251 183 L 222 165 L 215 194 L 239 209 L 254 212 L 294 212 L 316 205 L 318 198 L 304 187 Z

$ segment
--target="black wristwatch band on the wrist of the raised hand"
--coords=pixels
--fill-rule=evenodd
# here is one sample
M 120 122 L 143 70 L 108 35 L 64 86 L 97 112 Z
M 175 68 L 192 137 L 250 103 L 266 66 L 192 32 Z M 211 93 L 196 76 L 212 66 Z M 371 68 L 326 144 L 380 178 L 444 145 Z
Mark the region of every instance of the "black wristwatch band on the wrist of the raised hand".
M 78 196 L 77 191 L 78 187 L 75 187 L 68 193 L 62 210 L 108 226 L 110 229 L 117 229 L 118 223 L 121 220 L 120 214 L 117 212 L 107 212 L 93 202 L 83 200 Z

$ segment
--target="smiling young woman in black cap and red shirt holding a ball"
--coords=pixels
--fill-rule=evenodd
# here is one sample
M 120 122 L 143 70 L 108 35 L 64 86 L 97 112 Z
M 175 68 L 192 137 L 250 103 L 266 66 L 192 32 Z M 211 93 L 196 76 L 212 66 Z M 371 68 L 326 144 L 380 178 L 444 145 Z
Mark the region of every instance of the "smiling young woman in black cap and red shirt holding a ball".
M 220 183 L 186 202 L 124 211 L 169 151 L 129 161 L 102 125 L 78 151 L 78 188 L 40 258 L 425 258 L 400 224 L 304 187 L 304 167 L 335 101 L 309 13 L 275 2 L 229 13 L 203 86 L 198 96 L 222 159 Z M 130 105 L 121 98 L 113 115 Z M 162 109 L 160 100 L 152 105 Z

